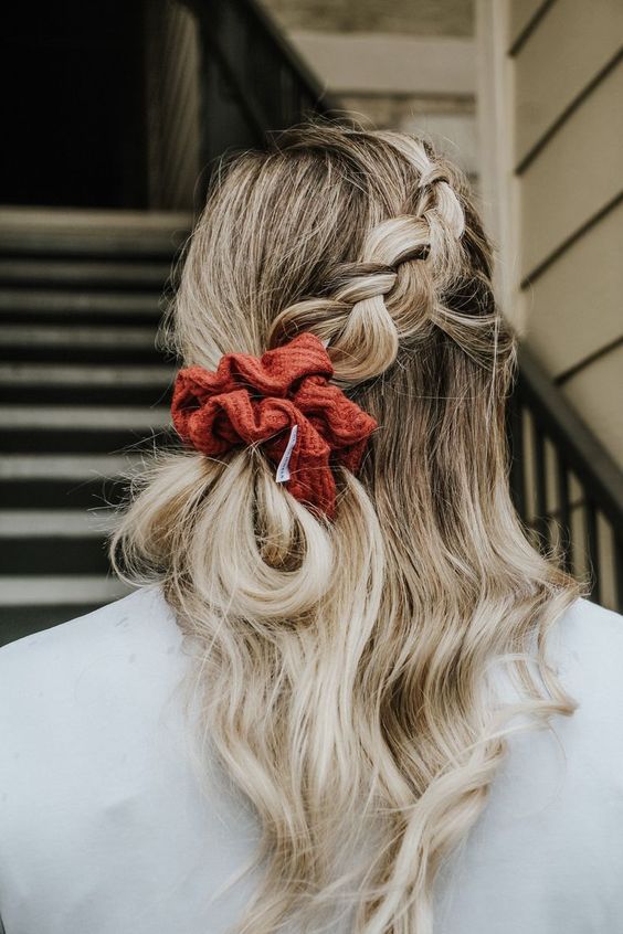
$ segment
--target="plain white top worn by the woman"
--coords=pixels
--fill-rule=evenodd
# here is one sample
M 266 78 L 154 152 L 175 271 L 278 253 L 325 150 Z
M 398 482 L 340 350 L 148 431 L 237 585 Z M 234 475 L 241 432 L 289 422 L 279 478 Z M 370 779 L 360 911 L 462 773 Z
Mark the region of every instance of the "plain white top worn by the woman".
M 623 617 L 581 599 L 555 636 L 581 707 L 560 744 L 510 740 L 435 934 L 623 932 Z M 253 881 L 217 890 L 257 828 L 202 794 L 176 692 L 189 665 L 156 588 L 0 649 L 7 934 L 224 934 L 240 916 Z

